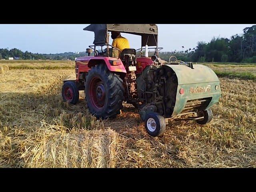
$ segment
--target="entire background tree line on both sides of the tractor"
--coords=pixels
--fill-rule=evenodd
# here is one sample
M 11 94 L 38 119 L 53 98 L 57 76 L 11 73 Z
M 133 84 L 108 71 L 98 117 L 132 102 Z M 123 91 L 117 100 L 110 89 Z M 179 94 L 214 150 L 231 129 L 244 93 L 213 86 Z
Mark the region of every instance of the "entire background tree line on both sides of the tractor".
M 198 42 L 195 48 L 185 48 L 184 46 L 181 46 L 181 48 L 182 51 L 160 52 L 160 58 L 168 61 L 170 56 L 176 56 L 184 62 L 256 63 L 256 25 L 244 28 L 243 34 L 233 35 L 230 39 L 214 37 L 210 42 Z M 86 53 L 34 54 L 28 51 L 22 52 L 16 48 L 11 50 L 8 48 L 0 49 L 0 59 L 16 57 L 25 60 L 75 60 L 76 57 L 82 56 L 86 56 Z

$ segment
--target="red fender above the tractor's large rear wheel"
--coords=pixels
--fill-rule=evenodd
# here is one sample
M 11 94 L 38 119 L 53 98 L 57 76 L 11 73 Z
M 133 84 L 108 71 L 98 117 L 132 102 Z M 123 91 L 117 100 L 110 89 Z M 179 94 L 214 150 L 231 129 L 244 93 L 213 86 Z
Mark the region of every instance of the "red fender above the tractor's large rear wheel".
M 119 61 L 120 65 L 112 65 L 111 61 Z M 90 59 L 88 62 L 88 67 L 92 68 L 93 66 L 97 64 L 106 64 L 108 67 L 108 70 L 120 74 L 120 76 L 124 77 L 126 76 L 126 69 L 124 67 L 124 64 L 122 61 L 118 58 L 110 58 L 110 57 L 94 57 L 93 59 Z

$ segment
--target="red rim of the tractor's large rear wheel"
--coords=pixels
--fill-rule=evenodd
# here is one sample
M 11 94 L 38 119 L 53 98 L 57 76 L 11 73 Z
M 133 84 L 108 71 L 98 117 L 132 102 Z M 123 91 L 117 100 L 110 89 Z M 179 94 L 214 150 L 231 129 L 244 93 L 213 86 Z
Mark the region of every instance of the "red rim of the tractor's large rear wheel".
M 102 80 L 98 77 L 92 78 L 89 86 L 90 99 L 96 109 L 101 109 L 105 105 L 106 92 Z

